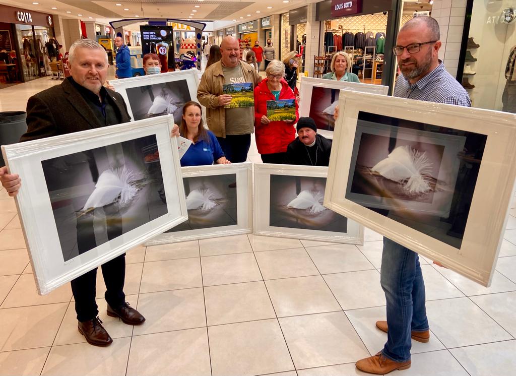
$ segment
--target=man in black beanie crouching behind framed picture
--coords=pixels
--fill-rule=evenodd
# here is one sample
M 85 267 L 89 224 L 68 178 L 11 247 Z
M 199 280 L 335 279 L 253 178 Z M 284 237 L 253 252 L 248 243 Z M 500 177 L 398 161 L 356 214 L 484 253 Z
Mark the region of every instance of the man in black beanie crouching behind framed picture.
M 312 118 L 299 118 L 298 137 L 287 147 L 286 162 L 289 165 L 328 166 L 330 164 L 331 140 L 317 134 Z

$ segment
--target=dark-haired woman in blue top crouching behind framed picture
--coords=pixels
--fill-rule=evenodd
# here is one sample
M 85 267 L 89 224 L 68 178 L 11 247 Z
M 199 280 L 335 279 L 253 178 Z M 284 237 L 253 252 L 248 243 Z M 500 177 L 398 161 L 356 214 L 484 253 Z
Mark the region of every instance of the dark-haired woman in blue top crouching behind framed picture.
M 197 102 L 186 102 L 183 106 L 183 120 L 179 127 L 181 136 L 192 141 L 192 144 L 181 158 L 181 166 L 227 165 L 217 137 L 204 128 L 201 122 L 202 109 Z

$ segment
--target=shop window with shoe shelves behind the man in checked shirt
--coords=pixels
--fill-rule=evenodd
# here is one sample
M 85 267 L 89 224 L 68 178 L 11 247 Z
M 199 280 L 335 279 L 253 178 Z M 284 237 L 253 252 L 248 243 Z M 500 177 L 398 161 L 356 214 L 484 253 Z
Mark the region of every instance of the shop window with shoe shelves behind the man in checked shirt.
M 469 0 L 457 79 L 473 107 L 516 113 L 516 14 L 509 0 Z

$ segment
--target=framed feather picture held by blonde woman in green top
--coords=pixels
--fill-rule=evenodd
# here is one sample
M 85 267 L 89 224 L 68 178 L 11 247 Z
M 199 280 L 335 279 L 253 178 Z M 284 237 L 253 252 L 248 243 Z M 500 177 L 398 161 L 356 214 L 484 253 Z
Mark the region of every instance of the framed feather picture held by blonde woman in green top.
M 314 77 L 301 77 L 299 116 L 309 116 L 317 125 L 317 133 L 333 138 L 335 119 L 333 112 L 338 104 L 340 90 L 387 95 L 388 86 L 335 81 Z

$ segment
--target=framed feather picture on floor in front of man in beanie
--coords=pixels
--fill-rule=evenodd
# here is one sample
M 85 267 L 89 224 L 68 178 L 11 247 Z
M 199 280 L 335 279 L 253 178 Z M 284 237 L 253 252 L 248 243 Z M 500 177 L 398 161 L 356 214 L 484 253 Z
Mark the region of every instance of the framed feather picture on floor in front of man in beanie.
M 362 244 L 364 227 L 326 208 L 328 167 L 254 165 L 254 234 Z

